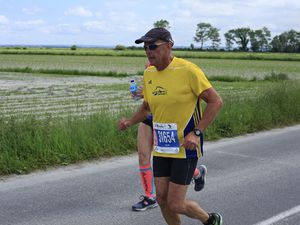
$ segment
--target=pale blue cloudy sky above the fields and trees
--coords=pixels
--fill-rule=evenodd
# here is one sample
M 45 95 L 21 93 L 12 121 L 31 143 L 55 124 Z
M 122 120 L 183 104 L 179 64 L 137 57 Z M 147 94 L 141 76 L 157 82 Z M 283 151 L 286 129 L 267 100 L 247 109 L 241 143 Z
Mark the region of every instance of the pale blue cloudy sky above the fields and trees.
M 134 45 L 157 20 L 175 45 L 193 43 L 196 26 L 266 26 L 272 37 L 300 31 L 299 0 L 0 0 L 0 45 Z M 194 43 L 197 46 L 197 43 Z

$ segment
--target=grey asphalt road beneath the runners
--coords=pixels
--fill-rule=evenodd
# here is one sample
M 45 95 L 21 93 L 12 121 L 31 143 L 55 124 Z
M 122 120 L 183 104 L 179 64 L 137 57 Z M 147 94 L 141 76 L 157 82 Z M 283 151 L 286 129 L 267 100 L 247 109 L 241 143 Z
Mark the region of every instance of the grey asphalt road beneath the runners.
M 300 224 L 300 125 L 206 143 L 207 183 L 188 198 L 224 225 Z M 160 225 L 158 208 L 132 212 L 142 194 L 137 156 L 0 181 L 1 225 Z M 182 217 L 183 224 L 199 221 Z

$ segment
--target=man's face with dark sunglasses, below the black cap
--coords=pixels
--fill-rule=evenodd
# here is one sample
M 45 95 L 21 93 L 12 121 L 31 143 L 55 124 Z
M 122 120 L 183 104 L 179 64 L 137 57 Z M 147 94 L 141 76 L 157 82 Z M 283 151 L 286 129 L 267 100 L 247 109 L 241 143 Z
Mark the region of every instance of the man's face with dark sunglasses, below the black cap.
M 144 49 L 151 65 L 159 65 L 164 61 L 165 57 L 169 57 L 170 49 L 168 46 L 168 42 L 161 40 L 144 43 Z

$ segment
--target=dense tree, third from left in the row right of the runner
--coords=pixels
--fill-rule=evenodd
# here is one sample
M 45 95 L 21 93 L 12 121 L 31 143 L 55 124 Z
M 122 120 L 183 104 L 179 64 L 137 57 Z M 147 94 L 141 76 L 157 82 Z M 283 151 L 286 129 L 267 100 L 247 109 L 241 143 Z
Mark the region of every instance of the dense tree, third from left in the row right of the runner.
M 250 32 L 251 49 L 254 52 L 269 50 L 269 42 L 271 40 L 271 32 L 267 27 Z

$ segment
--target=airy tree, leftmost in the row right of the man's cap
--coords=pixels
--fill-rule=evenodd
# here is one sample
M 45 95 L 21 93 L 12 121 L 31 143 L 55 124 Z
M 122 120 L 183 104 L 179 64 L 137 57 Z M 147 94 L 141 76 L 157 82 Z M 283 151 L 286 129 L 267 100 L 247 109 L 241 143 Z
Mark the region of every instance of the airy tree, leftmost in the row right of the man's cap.
M 203 45 L 208 40 L 212 43 L 212 48 L 217 48 L 221 41 L 219 29 L 213 27 L 210 23 L 198 23 L 194 41 L 200 42 L 200 48 L 203 49 Z

